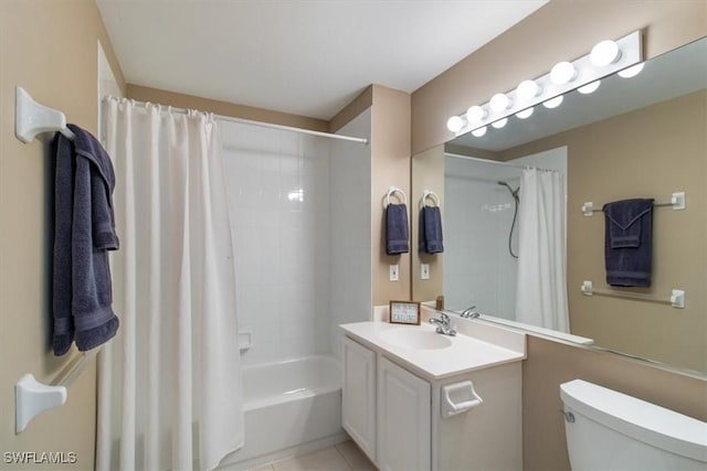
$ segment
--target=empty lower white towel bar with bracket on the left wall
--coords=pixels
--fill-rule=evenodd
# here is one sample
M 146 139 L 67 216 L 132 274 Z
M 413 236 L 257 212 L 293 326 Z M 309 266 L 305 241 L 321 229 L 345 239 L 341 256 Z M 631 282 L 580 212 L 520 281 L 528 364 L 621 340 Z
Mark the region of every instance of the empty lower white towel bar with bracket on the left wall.
M 28 424 L 44 410 L 66 403 L 66 388 L 76 381 L 102 347 L 75 355 L 52 384 L 38 382 L 31 373 L 25 374 L 14 386 L 14 432 L 21 433 Z

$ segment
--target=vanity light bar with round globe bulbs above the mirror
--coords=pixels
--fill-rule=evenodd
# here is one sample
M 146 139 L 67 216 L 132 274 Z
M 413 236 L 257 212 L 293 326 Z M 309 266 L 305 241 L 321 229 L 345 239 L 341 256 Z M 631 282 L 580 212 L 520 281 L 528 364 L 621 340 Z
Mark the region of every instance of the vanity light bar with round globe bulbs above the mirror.
M 594 49 L 592 50 L 594 51 L 593 62 L 597 62 L 595 51 L 598 49 L 605 49 L 600 47 L 600 45 L 605 46 L 605 44 L 606 41 L 602 41 L 597 44 L 597 46 L 594 46 Z M 493 100 L 489 100 L 484 105 L 469 108 L 469 117 L 467 117 L 467 113 L 452 116 L 447 120 L 447 129 L 454 132 L 456 137 L 465 135 L 468 131 L 484 128 L 493 122 L 514 116 L 519 111 L 532 108 L 536 105 L 561 96 L 568 92 L 573 90 L 574 88 L 591 84 L 592 82 L 614 74 L 632 65 L 639 64 L 643 61 L 641 31 L 634 31 L 633 33 L 627 34 L 620 40 L 616 40 L 615 44 L 618 46 L 618 53 L 609 60 L 601 61 L 600 65 L 593 64 L 591 53 L 583 55 L 582 57 L 579 57 L 571 63 L 559 63 L 555 67 L 552 67 L 556 71 L 555 74 L 552 74 L 552 72 L 548 72 L 541 77 L 537 77 L 535 81 L 532 81 L 537 84 L 537 94 L 535 96 L 524 99 L 518 96 L 517 89 L 506 92 L 505 94 L 496 94 L 494 95 Z M 601 65 L 606 62 L 609 63 L 605 65 Z M 574 68 L 573 74 L 571 73 L 570 67 Z M 557 71 L 564 72 L 564 74 L 560 74 L 564 75 L 564 77 L 559 77 L 558 81 Z M 527 82 L 528 81 L 521 82 L 521 84 L 524 84 L 524 88 L 528 87 Z M 504 100 L 507 106 L 503 107 L 503 109 L 499 109 L 499 104 L 502 100 L 502 97 L 499 95 L 505 95 L 508 98 L 507 100 Z M 494 101 L 493 108 L 492 101 Z M 469 118 L 474 119 L 474 122 L 472 122 Z

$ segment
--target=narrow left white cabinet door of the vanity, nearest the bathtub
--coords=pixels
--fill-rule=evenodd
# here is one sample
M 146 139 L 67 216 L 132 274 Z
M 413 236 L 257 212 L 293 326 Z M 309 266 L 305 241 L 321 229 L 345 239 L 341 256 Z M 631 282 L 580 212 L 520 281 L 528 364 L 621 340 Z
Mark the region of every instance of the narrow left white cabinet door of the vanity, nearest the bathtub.
M 344 338 L 342 425 L 376 461 L 376 353 Z

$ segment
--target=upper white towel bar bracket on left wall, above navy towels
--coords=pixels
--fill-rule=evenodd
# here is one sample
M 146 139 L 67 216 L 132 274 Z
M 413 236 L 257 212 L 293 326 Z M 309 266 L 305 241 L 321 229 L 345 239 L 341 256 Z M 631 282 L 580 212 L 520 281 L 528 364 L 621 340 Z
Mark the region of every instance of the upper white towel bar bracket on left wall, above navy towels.
M 40 105 L 22 87 L 14 88 L 14 135 L 24 143 L 42 132 L 61 132 L 73 140 L 74 133 L 66 127 L 63 113 Z

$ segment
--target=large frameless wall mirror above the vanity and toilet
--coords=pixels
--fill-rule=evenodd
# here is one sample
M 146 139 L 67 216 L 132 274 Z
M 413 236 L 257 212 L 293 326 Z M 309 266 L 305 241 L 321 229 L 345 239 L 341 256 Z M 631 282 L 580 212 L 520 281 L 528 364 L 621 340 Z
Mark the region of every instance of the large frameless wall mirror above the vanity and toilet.
M 447 310 L 475 306 L 483 319 L 564 332 L 573 341 L 707 375 L 707 38 L 646 61 L 632 78 L 604 77 L 595 92 L 563 98 L 557 108 L 536 106 L 527 119 L 511 117 L 502 129 L 413 157 L 416 208 L 423 192 L 433 191 L 444 229 L 444 253 L 413 253 L 414 299 L 444 295 Z M 651 286 L 609 286 L 604 214 L 584 215 L 582 204 L 666 203 L 676 192 L 685 192 L 685 210 L 653 208 Z M 542 200 L 550 205 L 537 206 Z M 556 215 L 549 223 L 547 207 Z M 416 220 L 413 214 L 413 247 Z M 557 237 L 551 245 L 564 245 L 566 261 L 563 279 L 555 281 L 564 289 L 532 301 L 538 280 L 549 281 L 544 264 L 561 263 L 557 254 L 539 254 Z M 534 257 L 546 260 L 528 271 Z M 421 279 L 423 264 L 429 279 Z M 587 296 L 584 281 L 620 297 Z M 674 289 L 685 291 L 684 309 L 664 303 Z M 544 313 L 564 306 L 566 321 L 524 311 L 534 302 L 557 304 L 531 310 Z

